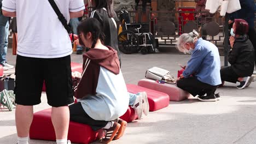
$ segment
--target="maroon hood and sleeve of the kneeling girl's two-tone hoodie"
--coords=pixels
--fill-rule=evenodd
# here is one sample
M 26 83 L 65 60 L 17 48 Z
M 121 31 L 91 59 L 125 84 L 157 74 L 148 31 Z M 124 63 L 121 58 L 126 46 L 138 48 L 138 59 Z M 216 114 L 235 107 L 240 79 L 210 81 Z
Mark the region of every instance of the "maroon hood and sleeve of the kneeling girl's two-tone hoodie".
M 103 67 L 118 75 L 120 62 L 117 51 L 107 46 L 109 50 L 91 49 L 83 55 L 83 74 L 80 82 L 74 87 L 74 97 L 81 99 L 87 95 L 95 95 L 100 74 Z

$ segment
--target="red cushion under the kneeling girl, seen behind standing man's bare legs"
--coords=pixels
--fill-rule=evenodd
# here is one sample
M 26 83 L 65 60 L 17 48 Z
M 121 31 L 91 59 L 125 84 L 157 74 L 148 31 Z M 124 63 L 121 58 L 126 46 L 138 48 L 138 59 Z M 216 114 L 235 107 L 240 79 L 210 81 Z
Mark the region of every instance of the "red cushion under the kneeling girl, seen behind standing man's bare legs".
M 95 141 L 95 133 L 89 125 L 69 122 L 68 140 L 72 143 L 90 143 Z M 34 113 L 30 127 L 30 139 L 55 141 L 55 132 L 51 123 L 51 109 Z

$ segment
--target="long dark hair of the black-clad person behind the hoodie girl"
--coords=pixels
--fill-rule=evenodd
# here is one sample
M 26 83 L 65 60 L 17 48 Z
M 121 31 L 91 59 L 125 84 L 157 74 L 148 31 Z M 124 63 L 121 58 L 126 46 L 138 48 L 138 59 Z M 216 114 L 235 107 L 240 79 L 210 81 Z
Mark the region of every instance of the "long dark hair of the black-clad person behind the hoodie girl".
M 108 17 L 114 17 L 113 9 L 111 7 L 113 0 L 93 0 L 92 5 L 94 10 L 106 8 Z

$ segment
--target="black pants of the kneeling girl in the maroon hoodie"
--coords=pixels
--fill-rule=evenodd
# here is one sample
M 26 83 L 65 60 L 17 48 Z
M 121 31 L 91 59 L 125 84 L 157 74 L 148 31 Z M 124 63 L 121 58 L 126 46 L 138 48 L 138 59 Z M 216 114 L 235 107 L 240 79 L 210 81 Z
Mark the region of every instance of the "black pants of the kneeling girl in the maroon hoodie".
M 69 105 L 69 111 L 70 111 L 70 121 L 88 124 L 94 131 L 105 127 L 108 123 L 106 121 L 97 121 L 95 119 L 92 119 L 84 111 L 82 104 L 80 102 L 73 105 Z

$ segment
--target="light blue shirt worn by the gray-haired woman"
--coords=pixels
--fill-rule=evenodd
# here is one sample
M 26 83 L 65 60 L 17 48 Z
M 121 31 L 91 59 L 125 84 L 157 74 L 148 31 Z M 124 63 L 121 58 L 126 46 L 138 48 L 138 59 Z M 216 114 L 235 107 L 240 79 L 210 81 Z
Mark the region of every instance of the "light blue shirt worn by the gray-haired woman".
M 187 68 L 183 76 L 189 77 L 194 74 L 197 80 L 217 86 L 222 83 L 220 79 L 220 58 L 218 47 L 210 41 L 198 39 L 195 49 L 192 51 Z

